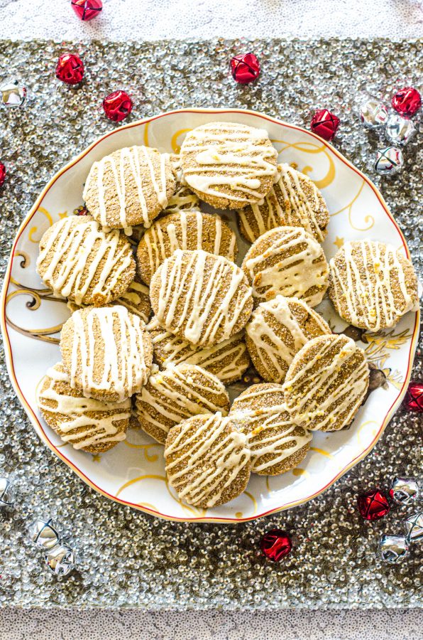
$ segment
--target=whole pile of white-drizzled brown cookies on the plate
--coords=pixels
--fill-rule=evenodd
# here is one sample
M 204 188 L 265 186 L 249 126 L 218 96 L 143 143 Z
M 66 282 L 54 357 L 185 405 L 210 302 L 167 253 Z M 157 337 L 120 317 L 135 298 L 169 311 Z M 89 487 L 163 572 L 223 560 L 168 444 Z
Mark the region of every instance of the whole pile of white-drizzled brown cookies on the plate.
M 193 129 L 179 156 L 119 149 L 89 171 L 89 215 L 40 241 L 38 273 L 72 311 L 38 388 L 46 422 L 93 453 L 143 429 L 165 445 L 170 485 L 203 508 L 251 473 L 293 469 L 313 431 L 350 425 L 365 400 L 364 352 L 314 310 L 326 291 L 368 331 L 417 304 L 394 247 L 346 242 L 328 265 L 322 193 L 277 158 L 266 131 L 231 122 Z M 200 201 L 236 210 L 251 242 L 241 267 L 234 231 Z M 226 385 L 251 362 L 263 382 L 231 405 Z

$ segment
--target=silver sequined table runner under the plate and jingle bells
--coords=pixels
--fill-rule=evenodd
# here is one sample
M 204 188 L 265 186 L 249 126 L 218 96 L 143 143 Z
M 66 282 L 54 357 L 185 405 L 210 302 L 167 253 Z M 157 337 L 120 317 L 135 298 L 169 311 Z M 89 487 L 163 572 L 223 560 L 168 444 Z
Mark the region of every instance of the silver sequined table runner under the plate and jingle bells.
M 0 42 L 0 77 L 26 82 L 22 110 L 0 112 L 0 157 L 9 177 L 1 193 L 1 270 L 23 215 L 57 169 L 114 127 L 101 97 L 129 90 L 132 119 L 178 107 L 245 107 L 307 127 L 314 107 L 341 117 L 335 146 L 380 187 L 422 274 L 417 224 L 422 176 L 419 139 L 405 149 L 402 172 L 375 175 L 373 156 L 382 133 L 358 122 L 364 93 L 388 98 L 418 80 L 422 43 L 390 41 L 244 41 L 263 64 L 253 86 L 236 85 L 227 63 L 238 41 L 79 43 L 86 76 L 79 89 L 59 84 L 55 61 L 66 43 Z M 413 377 L 422 376 L 418 351 Z M 375 557 L 380 534 L 400 533 L 410 508 L 385 520 L 358 517 L 358 492 L 387 488 L 395 474 L 417 476 L 419 416 L 398 410 L 373 452 L 322 496 L 291 511 L 237 526 L 164 522 L 99 496 L 38 440 L 1 363 L 0 475 L 16 483 L 13 511 L 0 512 L 0 602 L 31 607 L 139 607 L 143 609 L 278 609 L 300 607 L 416 607 L 419 548 L 400 565 Z M 26 539 L 38 517 L 60 522 L 77 548 L 77 570 L 57 578 Z M 281 564 L 258 553 L 270 526 L 290 531 L 295 550 Z

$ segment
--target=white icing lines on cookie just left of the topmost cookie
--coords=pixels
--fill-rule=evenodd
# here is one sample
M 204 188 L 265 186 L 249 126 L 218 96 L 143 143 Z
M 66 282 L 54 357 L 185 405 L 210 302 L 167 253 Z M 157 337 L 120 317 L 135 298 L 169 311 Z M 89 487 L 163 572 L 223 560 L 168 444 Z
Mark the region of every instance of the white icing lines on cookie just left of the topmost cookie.
M 116 151 L 119 154 L 117 157 L 115 154 L 110 156 L 104 156 L 98 162 L 94 162 L 91 171 L 85 183 L 84 193 L 82 197 L 87 201 L 87 192 L 91 186 L 95 170 L 97 169 L 97 193 L 99 203 L 99 219 L 101 225 L 106 227 L 109 224 L 109 215 L 107 213 L 106 206 L 106 189 L 104 174 L 107 172 L 107 176 L 114 177 L 114 186 L 116 188 L 117 199 L 119 201 L 119 223 L 121 228 L 125 230 L 127 235 L 131 235 L 131 227 L 128 225 L 126 216 L 126 186 L 125 178 L 128 178 L 128 174 L 131 175 L 133 181 L 136 184 L 138 193 L 138 203 L 141 207 L 143 225 L 149 227 L 151 224 L 150 215 L 147 206 L 147 200 L 145 197 L 145 189 L 150 191 L 151 186 L 160 206 L 164 209 L 167 206 L 167 185 L 166 185 L 166 166 L 169 161 L 169 154 L 159 154 L 155 149 L 158 156 L 160 156 L 160 170 L 158 175 L 156 174 L 155 166 L 151 159 L 150 153 L 152 149 L 146 146 L 129 146 Z M 132 194 L 131 194 L 132 195 Z

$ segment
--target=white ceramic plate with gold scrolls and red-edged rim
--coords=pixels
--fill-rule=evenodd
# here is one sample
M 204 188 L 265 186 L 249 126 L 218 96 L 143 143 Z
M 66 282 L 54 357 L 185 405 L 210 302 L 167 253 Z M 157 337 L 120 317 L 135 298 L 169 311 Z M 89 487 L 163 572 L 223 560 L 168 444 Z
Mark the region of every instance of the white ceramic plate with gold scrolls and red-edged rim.
M 297 163 L 326 198 L 331 213 L 324 251 L 329 260 L 344 240 L 381 240 L 409 256 L 405 239 L 375 186 L 336 149 L 314 134 L 263 114 L 244 110 L 180 110 L 134 122 L 101 137 L 65 166 L 45 187 L 18 231 L 1 300 L 1 326 L 9 373 L 35 431 L 45 444 L 101 494 L 182 521 L 237 522 L 281 511 L 318 496 L 374 447 L 407 388 L 417 342 L 418 314 L 407 314 L 395 329 L 362 336 L 369 361 L 387 376 L 385 388 L 370 394 L 349 430 L 315 432 L 300 468 L 282 476 L 251 476 L 236 500 L 207 511 L 177 498 L 165 478 L 163 447 L 136 430 L 110 452 L 92 456 L 63 444 L 40 417 L 35 389 L 48 367 L 60 360 L 60 326 L 69 316 L 63 301 L 52 299 L 35 272 L 38 241 L 56 220 L 82 204 L 82 187 L 95 160 L 123 146 L 146 144 L 160 151 L 179 150 L 189 129 L 229 120 L 267 129 L 279 160 Z M 234 218 L 234 214 L 229 214 Z M 234 228 L 236 225 L 234 223 Z M 246 247 L 246 243 L 243 243 Z M 241 250 L 240 258 L 243 251 Z M 319 311 L 342 330 L 329 301 Z

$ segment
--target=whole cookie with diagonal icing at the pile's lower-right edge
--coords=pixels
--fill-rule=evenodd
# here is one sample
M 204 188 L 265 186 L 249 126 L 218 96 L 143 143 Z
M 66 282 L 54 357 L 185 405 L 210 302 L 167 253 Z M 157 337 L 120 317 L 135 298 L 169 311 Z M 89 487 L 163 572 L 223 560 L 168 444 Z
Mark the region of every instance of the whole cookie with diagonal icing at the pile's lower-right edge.
M 366 398 L 366 354 L 346 336 L 319 336 L 298 351 L 283 384 L 292 420 L 312 431 L 351 424 Z

